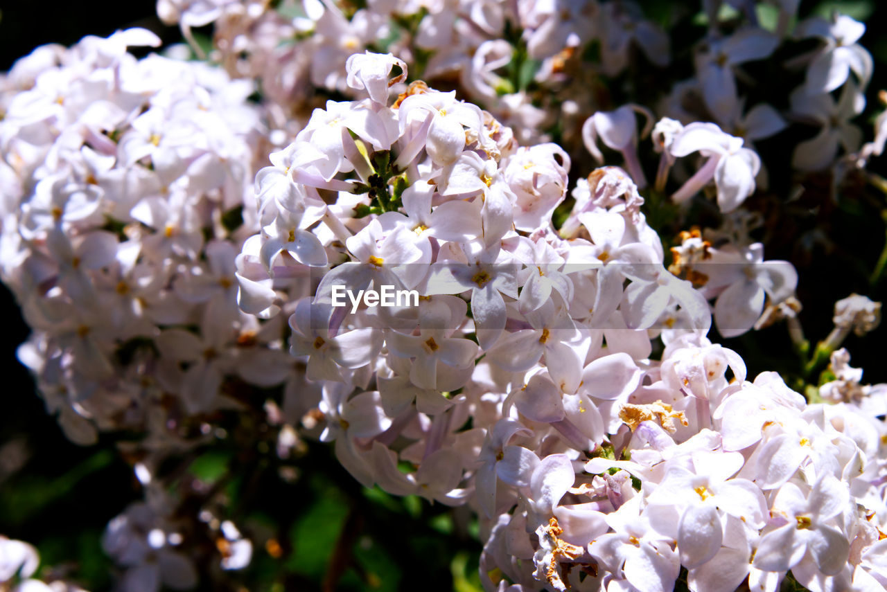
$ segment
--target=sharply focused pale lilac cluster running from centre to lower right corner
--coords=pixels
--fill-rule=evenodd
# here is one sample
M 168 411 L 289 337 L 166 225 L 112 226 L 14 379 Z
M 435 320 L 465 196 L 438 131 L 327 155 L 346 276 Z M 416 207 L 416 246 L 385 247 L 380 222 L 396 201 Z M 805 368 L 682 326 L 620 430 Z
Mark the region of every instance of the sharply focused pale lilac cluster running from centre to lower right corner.
M 263 230 L 238 260 L 241 307 L 290 315 L 340 462 L 367 487 L 475 508 L 489 589 L 668 590 L 680 565 L 704 591 L 775 590 L 789 570 L 811 589 L 882 586 L 887 431 L 860 406 L 883 405 L 880 389 L 854 375 L 858 395 L 808 405 L 774 373 L 747 382 L 742 358 L 705 337 L 709 299 L 734 335 L 789 300 L 789 263 L 687 233 L 675 271 L 705 277 L 695 288 L 663 266 L 616 167 L 577 186 L 555 233 L 566 153 L 518 146 L 450 93 L 413 88 L 389 106 L 373 89 L 396 82 L 393 66 L 349 58 L 369 97 L 328 103 L 271 155 L 256 177 Z M 672 153 L 726 136 L 699 125 Z M 322 270 L 313 293 L 308 267 Z M 338 312 L 333 284 L 421 301 Z

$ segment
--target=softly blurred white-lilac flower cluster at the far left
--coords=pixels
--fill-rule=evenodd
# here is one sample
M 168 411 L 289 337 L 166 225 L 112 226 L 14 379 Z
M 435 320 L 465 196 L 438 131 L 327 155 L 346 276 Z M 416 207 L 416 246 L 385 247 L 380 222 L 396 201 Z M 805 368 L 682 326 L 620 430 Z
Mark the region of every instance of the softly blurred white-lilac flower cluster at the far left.
M 224 399 L 227 373 L 261 377 L 264 357 L 284 355 L 250 347 L 262 327 L 237 306 L 234 260 L 258 228 L 243 205 L 265 142 L 246 100 L 253 86 L 205 63 L 127 52 L 159 44 L 129 29 L 43 46 L 0 92 L 0 274 L 33 331 L 20 361 L 70 440 L 144 432 L 140 446 L 158 462 L 198 445 L 194 417 L 237 405 Z M 238 230 L 228 218 L 241 209 Z M 196 581 L 191 560 L 169 550 L 162 512 L 174 503 L 162 505 L 108 526 L 126 589 Z

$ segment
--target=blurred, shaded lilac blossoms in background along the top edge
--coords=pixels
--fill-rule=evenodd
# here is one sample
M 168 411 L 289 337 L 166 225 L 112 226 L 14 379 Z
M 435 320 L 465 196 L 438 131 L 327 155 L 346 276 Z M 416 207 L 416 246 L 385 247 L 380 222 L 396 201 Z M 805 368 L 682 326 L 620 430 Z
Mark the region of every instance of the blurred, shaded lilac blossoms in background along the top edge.
M 799 170 L 832 167 L 841 149 L 850 160 L 867 160 L 883 151 L 884 137 L 861 145 L 860 129 L 852 123 L 865 107 L 863 93 L 874 69 L 871 55 L 858 43 L 864 24 L 843 14 L 794 23 L 798 3 L 787 1 L 765 7 L 774 20 L 765 27 L 755 2 L 702 4 L 709 27 L 694 45 L 694 75 L 666 88 L 667 96 L 656 110 L 685 125 L 708 122 L 735 137 L 681 144 L 673 156 L 699 152 L 709 159 L 709 167 L 693 175 L 695 184 L 685 185 L 682 199 L 717 175 L 718 204 L 728 209 L 741 203 L 748 195 L 742 191 L 750 191 L 743 179 L 757 175 L 760 167 L 752 143 L 781 133 L 789 121 L 797 121 L 797 129 L 818 130 L 797 144 L 792 164 Z M 732 28 L 725 31 L 720 14 L 734 8 L 740 9 L 741 18 L 732 20 Z M 563 147 L 569 150 L 583 139 L 587 144 L 593 124 L 583 122 L 588 113 L 598 112 L 595 123 L 604 126 L 600 139 L 609 149 L 624 152 L 632 138 L 625 129 L 631 108 L 644 109 L 625 105 L 614 112 L 602 110 L 596 99 L 606 94 L 600 90 L 600 78 L 617 80 L 632 59 L 657 68 L 671 65 L 669 35 L 645 18 L 640 3 L 630 0 L 379 0 L 360 8 L 323 0 L 158 0 L 157 9 L 165 23 L 181 27 L 195 47 L 192 27 L 212 25 L 214 43 L 208 57 L 233 77 L 260 80 L 265 99 L 273 105 L 271 126 L 291 134 L 308 120 L 316 90 L 353 95 L 346 61 L 370 50 L 398 56 L 433 86 L 436 81 L 451 86 L 455 79 L 469 100 L 514 129 L 523 143 L 546 141 L 546 129 L 557 122 L 561 141 L 569 144 Z M 772 59 L 789 42 L 799 41 L 813 49 L 783 64 L 804 73 L 804 82 L 789 97 L 789 110 L 780 113 L 766 102 L 747 105 L 746 66 Z M 587 52 L 590 46 L 598 55 Z M 521 73 L 515 62 L 532 67 Z M 526 88 L 528 83 L 532 90 Z M 600 157 L 598 149 L 591 150 Z M 712 159 L 714 155 L 718 158 Z M 734 158 L 717 166 L 727 155 Z M 632 156 L 626 155 L 626 162 L 643 188 L 646 180 L 633 166 Z M 722 191 L 721 179 L 738 187 Z

